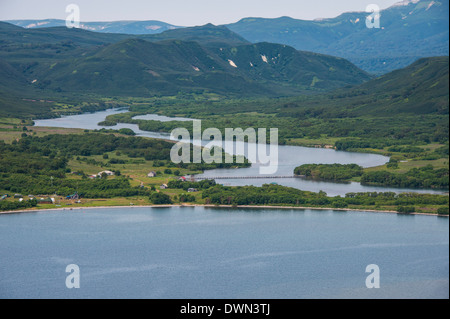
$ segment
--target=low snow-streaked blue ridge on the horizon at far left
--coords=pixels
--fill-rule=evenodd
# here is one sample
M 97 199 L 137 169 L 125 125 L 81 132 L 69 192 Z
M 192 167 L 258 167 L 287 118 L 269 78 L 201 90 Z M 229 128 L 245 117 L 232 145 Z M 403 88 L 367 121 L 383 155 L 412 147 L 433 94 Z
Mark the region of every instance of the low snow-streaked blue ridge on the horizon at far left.
M 66 26 L 66 21 L 59 19 L 6 20 L 5 22 L 26 29 Z M 106 32 L 106 33 L 156 34 L 167 30 L 177 29 L 180 27 L 161 21 L 148 20 L 148 21 L 81 22 L 80 28 L 83 30 Z

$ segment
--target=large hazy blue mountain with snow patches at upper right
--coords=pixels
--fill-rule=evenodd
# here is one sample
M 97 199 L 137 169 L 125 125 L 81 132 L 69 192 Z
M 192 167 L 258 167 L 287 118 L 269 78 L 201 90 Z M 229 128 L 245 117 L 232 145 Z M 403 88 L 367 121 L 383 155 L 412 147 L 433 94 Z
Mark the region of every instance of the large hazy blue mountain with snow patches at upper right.
M 340 56 L 373 73 L 405 67 L 421 57 L 449 54 L 448 1 L 403 1 L 381 11 L 380 29 L 366 27 L 366 12 L 296 20 L 245 18 L 226 25 L 257 43 Z

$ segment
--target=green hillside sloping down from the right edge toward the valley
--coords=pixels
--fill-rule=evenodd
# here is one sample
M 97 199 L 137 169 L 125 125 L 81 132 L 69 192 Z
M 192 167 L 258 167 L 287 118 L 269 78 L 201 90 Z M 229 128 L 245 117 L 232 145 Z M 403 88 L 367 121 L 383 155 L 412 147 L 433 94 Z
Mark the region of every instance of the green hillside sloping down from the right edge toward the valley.
M 449 57 L 422 58 L 353 88 L 287 104 L 284 116 L 320 110 L 323 117 L 448 114 Z

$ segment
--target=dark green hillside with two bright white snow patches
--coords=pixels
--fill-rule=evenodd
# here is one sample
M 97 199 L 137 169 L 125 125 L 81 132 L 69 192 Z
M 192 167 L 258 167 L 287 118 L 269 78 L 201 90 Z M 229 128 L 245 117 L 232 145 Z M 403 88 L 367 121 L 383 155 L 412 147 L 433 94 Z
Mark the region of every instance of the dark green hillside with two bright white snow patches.
M 370 76 L 345 59 L 297 51 L 286 45 L 257 43 L 217 50 L 236 70 L 255 81 L 279 81 L 308 89 L 359 84 Z M 231 63 L 231 62 L 229 62 Z

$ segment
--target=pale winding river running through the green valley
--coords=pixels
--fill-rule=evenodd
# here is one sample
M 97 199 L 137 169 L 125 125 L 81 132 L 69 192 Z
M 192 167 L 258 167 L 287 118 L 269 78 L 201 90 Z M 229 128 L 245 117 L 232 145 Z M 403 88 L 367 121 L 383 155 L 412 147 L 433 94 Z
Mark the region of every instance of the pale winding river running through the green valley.
M 106 116 L 127 112 L 127 110 L 121 109 L 109 109 L 106 111 L 100 111 L 96 113 L 85 113 L 80 115 L 65 116 L 56 119 L 46 119 L 46 120 L 36 120 L 36 126 L 51 126 L 51 127 L 65 127 L 65 128 L 82 128 L 82 129 L 101 129 L 104 128 L 99 126 L 98 123 L 103 121 Z M 169 120 L 182 120 L 189 121 L 191 119 L 187 118 L 170 118 L 166 116 L 160 116 L 156 114 L 147 114 L 140 116 L 140 118 L 147 120 L 159 120 L 159 121 L 169 121 Z M 159 133 L 159 132 L 147 132 L 139 130 L 135 124 L 124 124 L 119 123 L 112 127 L 113 129 L 130 128 L 138 136 L 146 136 L 160 139 L 169 139 L 170 134 Z M 205 145 L 206 141 L 201 141 Z M 247 143 L 244 150 L 247 150 Z M 236 151 L 236 150 L 235 150 Z M 236 152 L 235 152 L 236 153 Z M 386 163 L 389 158 L 377 154 L 366 154 L 366 153 L 355 153 L 355 152 L 343 152 L 336 151 L 333 149 L 322 149 L 322 148 L 308 148 L 301 146 L 288 146 L 280 145 L 278 147 L 278 171 L 275 175 L 293 175 L 294 168 L 308 163 L 323 163 L 323 164 L 350 164 L 355 163 L 362 167 L 373 167 Z M 238 155 L 245 155 L 239 154 Z M 249 168 L 241 169 L 215 169 L 208 170 L 204 174 L 199 175 L 199 177 L 215 177 L 215 176 L 257 176 L 259 175 L 259 164 L 252 164 Z M 443 194 L 446 191 L 440 190 L 430 190 L 430 189 L 408 189 L 408 188 L 394 188 L 394 187 L 377 187 L 377 186 L 365 186 L 360 183 L 333 183 L 325 181 L 315 181 L 303 178 L 259 178 L 259 179 L 216 179 L 218 183 L 230 186 L 237 185 L 255 185 L 261 186 L 268 183 L 277 183 L 279 185 L 290 186 L 297 189 L 319 192 L 324 191 L 329 196 L 345 196 L 346 193 L 350 192 L 417 192 L 417 193 L 432 193 L 432 194 Z

